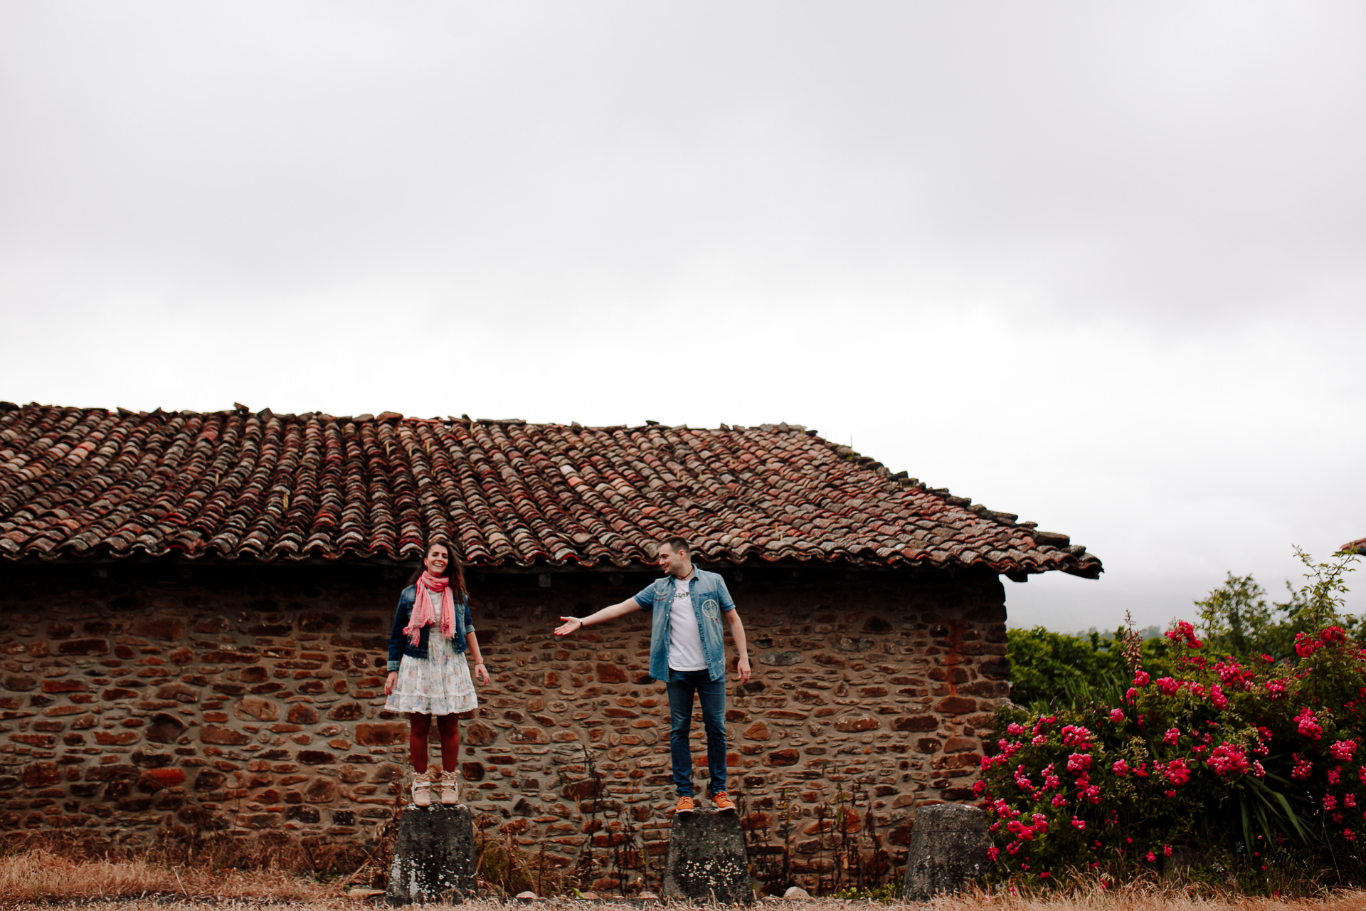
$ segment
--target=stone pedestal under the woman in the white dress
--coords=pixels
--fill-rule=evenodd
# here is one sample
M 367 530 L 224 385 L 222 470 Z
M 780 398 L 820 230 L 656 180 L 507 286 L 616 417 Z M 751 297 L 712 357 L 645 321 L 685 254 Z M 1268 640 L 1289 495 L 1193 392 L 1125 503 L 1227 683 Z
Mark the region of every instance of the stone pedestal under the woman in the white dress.
M 408 806 L 399 819 L 389 904 L 460 900 L 474 895 L 474 819 L 470 807 Z

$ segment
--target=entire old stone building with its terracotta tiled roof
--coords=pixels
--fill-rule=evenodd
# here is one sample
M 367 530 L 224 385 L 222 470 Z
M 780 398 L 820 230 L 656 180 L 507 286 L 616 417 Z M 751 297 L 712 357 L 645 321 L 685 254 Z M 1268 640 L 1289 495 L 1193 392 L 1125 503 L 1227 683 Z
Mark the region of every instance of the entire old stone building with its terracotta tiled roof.
M 467 802 L 630 888 L 672 809 L 649 631 L 550 630 L 642 589 L 672 533 L 744 619 L 734 789 L 759 875 L 799 882 L 851 836 L 895 862 L 917 803 L 970 799 L 1008 694 L 1000 576 L 1101 571 L 791 425 L 0 403 L 0 830 L 373 839 L 406 770 L 388 627 L 438 534 L 493 673 Z

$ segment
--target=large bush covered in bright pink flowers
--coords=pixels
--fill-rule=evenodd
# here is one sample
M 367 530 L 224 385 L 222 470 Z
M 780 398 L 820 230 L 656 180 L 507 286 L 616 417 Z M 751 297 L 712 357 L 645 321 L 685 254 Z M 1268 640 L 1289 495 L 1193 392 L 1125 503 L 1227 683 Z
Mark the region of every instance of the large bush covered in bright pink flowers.
M 1167 636 L 1162 676 L 1134 669 L 1119 705 L 1001 710 L 977 784 L 997 871 L 1157 869 L 1176 847 L 1366 881 L 1366 649 L 1336 624 L 1280 662 Z

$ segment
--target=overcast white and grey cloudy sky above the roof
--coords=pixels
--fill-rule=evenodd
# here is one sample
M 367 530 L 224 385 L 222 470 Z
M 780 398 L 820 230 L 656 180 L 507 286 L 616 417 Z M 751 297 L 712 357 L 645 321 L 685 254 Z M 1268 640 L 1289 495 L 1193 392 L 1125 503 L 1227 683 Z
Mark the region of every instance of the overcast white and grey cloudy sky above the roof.
M 1164 623 L 1366 535 L 1363 46 L 1303 0 L 11 0 L 0 399 L 803 423 L 1105 561 L 1014 623 Z

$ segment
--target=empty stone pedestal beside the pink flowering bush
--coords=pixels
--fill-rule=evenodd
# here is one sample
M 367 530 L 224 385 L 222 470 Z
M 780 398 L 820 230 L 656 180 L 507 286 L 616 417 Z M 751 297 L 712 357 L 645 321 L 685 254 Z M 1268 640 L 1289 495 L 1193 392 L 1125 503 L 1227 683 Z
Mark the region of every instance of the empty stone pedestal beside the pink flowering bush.
M 959 892 L 992 867 L 986 850 L 986 814 L 966 803 L 936 803 L 915 811 L 915 828 L 906 852 L 907 901 L 926 901 L 943 892 Z

